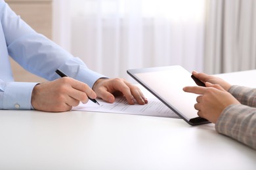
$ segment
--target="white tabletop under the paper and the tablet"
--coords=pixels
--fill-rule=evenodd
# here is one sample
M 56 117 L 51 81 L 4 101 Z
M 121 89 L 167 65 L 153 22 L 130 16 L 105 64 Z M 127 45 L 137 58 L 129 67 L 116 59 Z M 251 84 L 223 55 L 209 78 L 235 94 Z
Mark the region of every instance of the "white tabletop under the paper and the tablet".
M 247 85 L 256 87 L 255 75 L 219 76 L 234 84 L 239 78 L 254 80 Z M 220 135 L 213 124 L 100 112 L 0 110 L 0 169 L 249 170 L 256 169 L 256 151 Z

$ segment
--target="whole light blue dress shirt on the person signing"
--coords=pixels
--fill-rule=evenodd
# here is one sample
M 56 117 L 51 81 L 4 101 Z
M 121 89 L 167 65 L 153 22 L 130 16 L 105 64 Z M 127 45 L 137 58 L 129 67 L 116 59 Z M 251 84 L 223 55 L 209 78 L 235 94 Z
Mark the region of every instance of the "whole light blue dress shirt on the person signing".
M 31 73 L 54 80 L 56 69 L 85 82 L 91 88 L 98 78 L 79 58 L 53 41 L 36 33 L 20 16 L 0 0 L 0 109 L 31 109 L 31 95 L 36 82 L 14 82 L 9 56 Z

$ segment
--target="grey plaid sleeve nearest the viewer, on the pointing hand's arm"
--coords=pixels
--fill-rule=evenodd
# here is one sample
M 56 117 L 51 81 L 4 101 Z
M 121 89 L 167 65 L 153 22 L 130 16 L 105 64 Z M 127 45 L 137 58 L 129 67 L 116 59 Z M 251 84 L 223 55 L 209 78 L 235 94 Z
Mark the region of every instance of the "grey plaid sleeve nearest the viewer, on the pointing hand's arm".
M 219 133 L 256 149 L 256 109 L 245 105 L 230 105 L 215 124 Z

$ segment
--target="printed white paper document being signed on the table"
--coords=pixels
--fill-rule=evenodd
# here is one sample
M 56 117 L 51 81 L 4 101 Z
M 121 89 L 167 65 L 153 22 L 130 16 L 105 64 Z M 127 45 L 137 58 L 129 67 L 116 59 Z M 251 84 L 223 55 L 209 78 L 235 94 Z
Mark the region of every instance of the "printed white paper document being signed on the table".
M 116 97 L 114 103 L 107 103 L 102 99 L 96 99 L 100 105 L 96 105 L 92 101 L 83 104 L 80 103 L 77 107 L 73 107 L 72 110 L 83 110 L 90 112 L 112 112 L 119 114 L 137 114 L 144 116 L 158 116 L 166 118 L 180 118 L 173 110 L 169 109 L 152 93 L 148 92 L 145 88 L 138 85 L 144 96 L 148 99 L 148 104 L 139 105 L 135 102 L 135 105 L 129 105 L 125 97 Z

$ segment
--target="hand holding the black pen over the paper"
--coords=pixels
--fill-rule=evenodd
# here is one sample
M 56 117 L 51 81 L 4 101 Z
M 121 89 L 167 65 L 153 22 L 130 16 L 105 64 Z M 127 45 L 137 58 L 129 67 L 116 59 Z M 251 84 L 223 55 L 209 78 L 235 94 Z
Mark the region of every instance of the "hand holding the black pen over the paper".
M 52 82 L 37 84 L 32 91 L 32 106 L 35 110 L 63 112 L 87 103 L 88 97 L 96 98 L 87 84 L 70 77 L 63 77 Z

